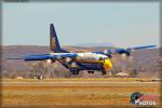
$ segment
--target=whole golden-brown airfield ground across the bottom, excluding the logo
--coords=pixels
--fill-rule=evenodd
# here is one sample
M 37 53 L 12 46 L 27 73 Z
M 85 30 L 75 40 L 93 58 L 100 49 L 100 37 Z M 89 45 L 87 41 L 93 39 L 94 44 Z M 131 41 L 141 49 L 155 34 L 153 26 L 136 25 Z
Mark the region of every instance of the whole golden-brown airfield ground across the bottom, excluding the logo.
M 140 81 L 140 82 L 139 82 Z M 2 107 L 134 107 L 133 92 L 157 96 L 160 107 L 160 82 L 137 78 L 3 79 Z

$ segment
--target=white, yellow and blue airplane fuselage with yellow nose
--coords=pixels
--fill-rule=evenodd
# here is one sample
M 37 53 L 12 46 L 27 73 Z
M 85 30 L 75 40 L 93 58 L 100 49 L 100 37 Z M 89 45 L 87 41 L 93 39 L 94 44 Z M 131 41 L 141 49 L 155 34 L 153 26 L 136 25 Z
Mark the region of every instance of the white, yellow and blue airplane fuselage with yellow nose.
M 59 55 L 60 53 L 51 53 L 51 55 Z M 63 54 L 63 53 L 62 53 Z M 69 54 L 69 53 L 64 53 Z M 63 66 L 65 66 L 69 70 L 104 70 L 104 63 L 108 60 L 108 56 L 104 54 L 95 54 L 92 52 L 87 53 L 70 53 L 76 54 L 76 58 L 60 58 L 58 60 Z M 111 68 L 111 63 L 107 64 L 108 68 Z

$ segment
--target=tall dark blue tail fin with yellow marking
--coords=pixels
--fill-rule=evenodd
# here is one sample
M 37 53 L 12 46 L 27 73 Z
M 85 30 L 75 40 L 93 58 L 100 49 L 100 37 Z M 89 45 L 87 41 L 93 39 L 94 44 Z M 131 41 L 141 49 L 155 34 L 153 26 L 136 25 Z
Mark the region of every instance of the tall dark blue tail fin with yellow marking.
M 53 24 L 50 25 L 50 51 L 54 53 L 68 53 L 67 51 L 60 49 Z

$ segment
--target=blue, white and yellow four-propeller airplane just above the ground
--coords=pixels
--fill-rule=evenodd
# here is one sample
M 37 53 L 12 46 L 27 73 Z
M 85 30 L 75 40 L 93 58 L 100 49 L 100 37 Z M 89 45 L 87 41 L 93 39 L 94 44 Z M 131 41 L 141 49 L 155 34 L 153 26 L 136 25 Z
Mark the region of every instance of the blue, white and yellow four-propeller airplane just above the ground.
M 89 73 L 93 73 L 94 70 L 102 71 L 106 75 L 106 70 L 112 68 L 110 62 L 111 54 L 126 54 L 131 55 L 131 51 L 138 49 L 154 48 L 156 45 L 138 46 L 132 49 L 117 49 L 108 50 L 106 52 L 85 52 L 85 53 L 70 53 L 63 50 L 59 45 L 56 31 L 53 24 L 50 25 L 50 50 L 51 53 L 39 55 L 27 55 L 18 59 L 24 60 L 48 60 L 48 63 L 59 62 L 64 67 L 69 69 L 72 75 L 78 75 L 80 70 L 87 70 Z M 13 59 L 13 58 L 12 58 Z M 17 58 L 14 58 L 17 59 Z

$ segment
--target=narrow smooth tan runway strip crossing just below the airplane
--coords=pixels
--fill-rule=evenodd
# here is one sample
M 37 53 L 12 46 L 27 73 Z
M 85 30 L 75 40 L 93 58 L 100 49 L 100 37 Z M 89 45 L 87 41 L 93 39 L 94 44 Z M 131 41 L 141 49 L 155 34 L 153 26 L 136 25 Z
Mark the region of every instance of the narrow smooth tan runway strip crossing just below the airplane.
M 59 82 L 1 82 L 2 86 L 159 86 L 160 82 L 120 81 L 59 81 Z

